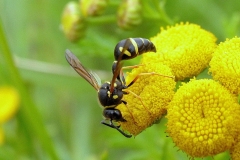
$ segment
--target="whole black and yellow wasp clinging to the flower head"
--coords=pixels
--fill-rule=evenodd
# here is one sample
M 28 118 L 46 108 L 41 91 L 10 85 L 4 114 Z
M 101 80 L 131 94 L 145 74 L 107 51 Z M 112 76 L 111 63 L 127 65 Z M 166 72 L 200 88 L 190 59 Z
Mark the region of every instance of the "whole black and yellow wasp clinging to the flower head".
M 156 52 L 156 48 L 152 42 L 148 39 L 143 38 L 128 38 L 120 41 L 114 50 L 115 60 L 112 71 L 113 77 L 111 82 L 105 82 L 101 85 L 100 78 L 93 72 L 88 71 L 79 61 L 79 59 L 70 51 L 66 50 L 65 55 L 68 63 L 73 67 L 73 69 L 83 77 L 88 83 L 90 83 L 95 90 L 98 92 L 98 99 L 101 105 L 103 106 L 103 116 L 105 120 L 101 123 L 118 130 L 125 137 L 130 138 L 132 135 L 124 133 L 120 126 L 116 126 L 115 122 L 126 122 L 122 117 L 121 111 L 116 109 L 116 106 L 124 103 L 127 105 L 127 102 L 124 101 L 123 95 L 128 94 L 128 91 L 124 91 L 129 86 L 131 86 L 137 78 L 135 78 L 129 85 L 125 84 L 123 75 L 120 75 L 122 70 L 122 60 L 132 59 L 140 54 L 143 54 L 148 51 Z M 105 121 L 109 120 L 109 123 Z

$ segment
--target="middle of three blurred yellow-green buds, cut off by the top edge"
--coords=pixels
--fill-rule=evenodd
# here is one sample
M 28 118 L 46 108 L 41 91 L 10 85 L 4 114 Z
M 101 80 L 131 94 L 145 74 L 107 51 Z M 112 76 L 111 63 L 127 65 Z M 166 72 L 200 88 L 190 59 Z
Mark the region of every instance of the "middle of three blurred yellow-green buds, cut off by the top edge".
M 107 7 L 108 0 L 80 0 L 79 3 L 84 16 L 98 16 Z

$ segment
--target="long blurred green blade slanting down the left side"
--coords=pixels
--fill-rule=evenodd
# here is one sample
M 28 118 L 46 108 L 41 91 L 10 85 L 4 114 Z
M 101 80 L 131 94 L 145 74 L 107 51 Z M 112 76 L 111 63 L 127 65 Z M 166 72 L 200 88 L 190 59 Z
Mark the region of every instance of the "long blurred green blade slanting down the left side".
M 24 123 L 27 124 L 26 128 L 28 129 L 29 134 L 32 135 L 32 137 L 37 137 L 39 139 L 39 141 L 42 144 L 42 148 L 49 154 L 51 159 L 54 160 L 59 159 L 56 154 L 53 143 L 44 126 L 42 117 L 37 107 L 34 105 L 31 97 L 29 96 L 29 93 L 27 92 L 27 89 L 18 72 L 18 69 L 16 68 L 13 62 L 12 54 L 4 34 L 1 20 L 0 20 L 0 50 L 1 50 L 0 53 L 3 55 L 3 58 L 6 61 L 5 67 L 9 71 L 11 80 L 16 85 L 16 88 L 20 93 L 22 106 L 20 108 L 19 114 L 20 117 L 22 117 L 23 120 L 25 121 Z

